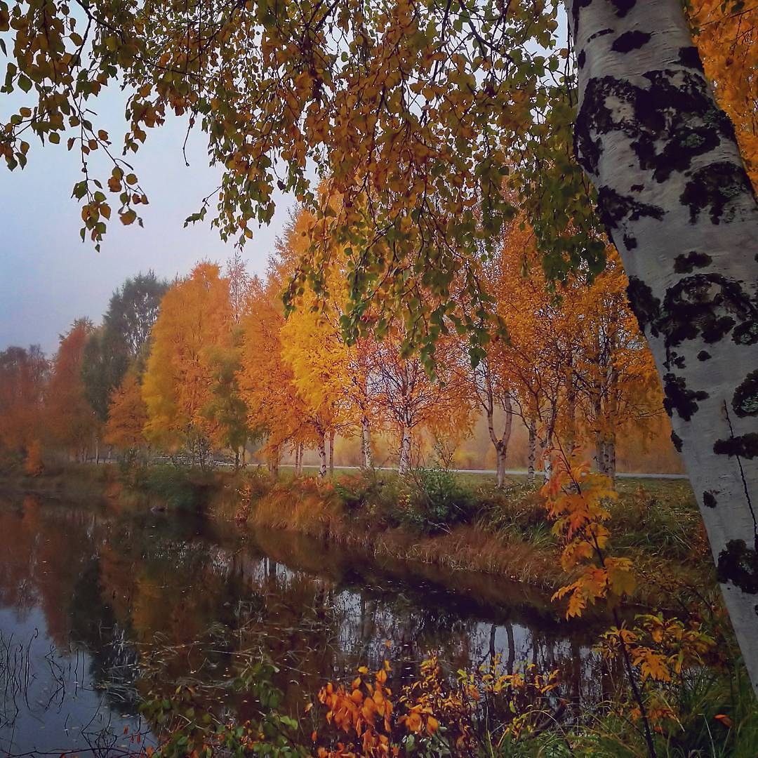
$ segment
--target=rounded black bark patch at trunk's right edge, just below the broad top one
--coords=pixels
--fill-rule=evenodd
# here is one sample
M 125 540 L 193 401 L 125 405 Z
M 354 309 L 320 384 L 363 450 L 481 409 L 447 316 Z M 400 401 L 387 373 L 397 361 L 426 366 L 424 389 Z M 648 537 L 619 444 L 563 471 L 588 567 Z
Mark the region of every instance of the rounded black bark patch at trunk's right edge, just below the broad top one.
M 744 168 L 719 161 L 694 171 L 679 199 L 690 208 L 693 224 L 706 208 L 711 222 L 720 224 L 721 221 L 734 221 L 737 208 L 733 201 L 746 193 L 752 195 L 753 187 Z

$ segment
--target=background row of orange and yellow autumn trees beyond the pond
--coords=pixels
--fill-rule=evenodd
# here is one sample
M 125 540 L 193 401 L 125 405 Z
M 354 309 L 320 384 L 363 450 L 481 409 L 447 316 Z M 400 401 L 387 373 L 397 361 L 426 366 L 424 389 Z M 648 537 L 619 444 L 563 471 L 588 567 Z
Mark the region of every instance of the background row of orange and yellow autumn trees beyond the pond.
M 468 262 L 488 296 L 475 342 L 463 326 L 427 324 L 437 329 L 429 361 L 409 349 L 403 314 L 376 318 L 370 303 L 346 340 L 337 248 L 322 291 L 300 287 L 285 309 L 282 293 L 318 235 L 298 211 L 264 278 L 238 254 L 172 283 L 139 274 L 101 324 L 75 321 L 52 359 L 36 346 L 0 353 L 2 464 L 33 474 L 62 460 L 171 457 L 315 465 L 322 476 L 334 465 L 443 465 L 496 469 L 503 481 L 506 468 L 549 471 L 556 451 L 578 448 L 610 476 L 681 471 L 612 250 L 594 279 L 552 282 L 515 219 L 496 254 Z M 459 275 L 456 306 L 484 309 L 465 302 Z

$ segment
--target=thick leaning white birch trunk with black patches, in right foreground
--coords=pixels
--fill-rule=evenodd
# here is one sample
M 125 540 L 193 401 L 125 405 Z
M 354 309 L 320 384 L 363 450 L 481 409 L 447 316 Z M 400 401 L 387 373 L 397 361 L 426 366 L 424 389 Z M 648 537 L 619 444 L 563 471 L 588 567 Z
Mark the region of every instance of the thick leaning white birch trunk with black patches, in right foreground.
M 679 0 L 567 2 L 578 159 L 622 255 L 758 693 L 758 208 Z

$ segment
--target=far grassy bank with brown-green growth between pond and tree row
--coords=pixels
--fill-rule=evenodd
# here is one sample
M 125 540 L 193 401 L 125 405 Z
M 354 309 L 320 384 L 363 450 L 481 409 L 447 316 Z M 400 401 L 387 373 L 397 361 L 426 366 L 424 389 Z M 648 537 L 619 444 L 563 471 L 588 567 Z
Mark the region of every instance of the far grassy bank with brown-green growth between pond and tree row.
M 28 476 L 9 471 L 0 489 L 76 499 L 105 496 L 130 509 L 208 512 L 219 518 L 294 531 L 362 550 L 451 570 L 483 572 L 554 590 L 565 583 L 560 547 L 538 486 L 430 469 L 401 478 L 392 471 L 349 471 L 320 480 L 285 471 L 276 481 L 259 468 L 200 471 L 152 465 L 68 465 Z M 637 598 L 659 604 L 659 578 L 714 587 L 697 506 L 686 481 L 622 480 L 610 508 L 615 554 L 634 560 L 644 581 Z

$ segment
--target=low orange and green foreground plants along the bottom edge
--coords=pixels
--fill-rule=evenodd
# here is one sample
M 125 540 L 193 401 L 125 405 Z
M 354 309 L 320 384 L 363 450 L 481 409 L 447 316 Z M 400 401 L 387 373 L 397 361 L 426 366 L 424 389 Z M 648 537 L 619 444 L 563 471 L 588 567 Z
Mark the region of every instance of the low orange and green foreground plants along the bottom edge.
M 647 750 L 631 703 L 625 714 L 615 702 L 568 716 L 558 672 L 538 672 L 532 665 L 509 673 L 495 660 L 451 673 L 432 658 L 421 663 L 418 678 L 396 688 L 385 660 L 377 671 L 364 666 L 350 681 L 324 684 L 299 720 L 281 713 L 282 693 L 271 684 L 274 670 L 257 663 L 233 679 L 256 714 L 243 722 L 214 719 L 196 707 L 188 688 L 179 688 L 171 700 L 149 700 L 144 713 L 168 735 L 149 755 L 636 758 Z M 756 708 L 744 675 L 734 681 L 712 672 L 689 681 L 677 677 L 656 690 L 666 705 L 653 715 L 654 754 L 755 754 Z

